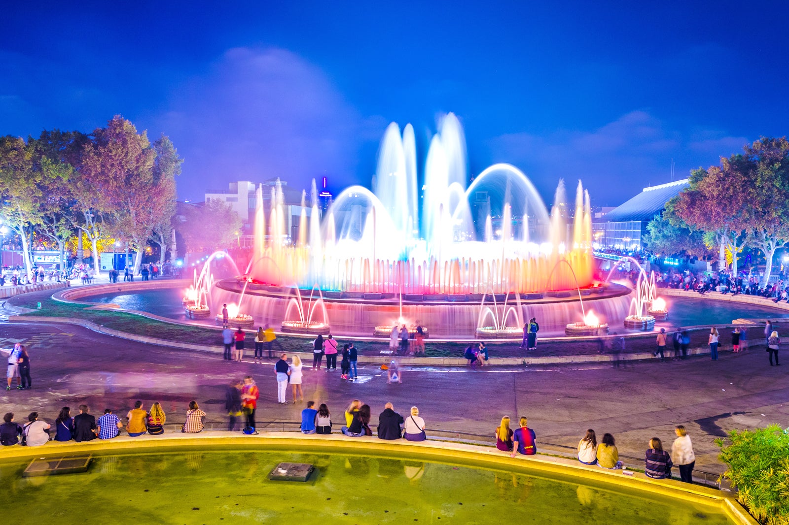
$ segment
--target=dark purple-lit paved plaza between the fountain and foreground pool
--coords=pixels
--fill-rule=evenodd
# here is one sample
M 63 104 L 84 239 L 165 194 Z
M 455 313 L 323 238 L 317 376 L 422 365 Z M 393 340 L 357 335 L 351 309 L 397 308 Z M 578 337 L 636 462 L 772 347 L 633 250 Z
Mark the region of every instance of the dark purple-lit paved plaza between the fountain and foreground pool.
M 275 422 L 267 426 L 271 430 L 296 430 L 282 423 L 297 421 L 303 408 L 276 403 L 273 360 L 227 362 L 221 355 L 125 341 L 65 324 L 0 324 L 0 347 L 15 342 L 28 345 L 33 378 L 33 389 L 0 393 L 0 411 L 13 411 L 17 419 L 39 411 L 51 422 L 62 406 L 74 413 L 82 403 L 94 414 L 113 408 L 125 415 L 135 400 L 143 400 L 146 407 L 159 401 L 168 422 L 180 423 L 189 401 L 197 400 L 209 425 L 221 429 L 226 385 L 247 374 L 260 386 L 256 419 Z M 715 438 L 734 428 L 785 425 L 789 414 L 789 365 L 769 367 L 755 342 L 750 352 L 722 352 L 717 362 L 699 356 L 618 368 L 611 363 L 482 370 L 409 367 L 402 385 L 387 385 L 386 373 L 377 365 L 360 364 L 361 380 L 351 383 L 342 381 L 339 370 L 313 372 L 305 362 L 303 387 L 306 400 L 328 404 L 336 430 L 346 404 L 359 398 L 372 407 L 374 424 L 383 404 L 391 401 L 401 412 L 417 405 L 428 435 L 434 431 L 469 441 L 489 436 L 492 442 L 502 415 L 526 415 L 544 450 L 574 447 L 593 428 L 599 437 L 614 434 L 621 455 L 641 458 L 649 438 L 671 443 L 674 426 L 684 424 L 694 441 L 697 469 L 717 474 L 724 466 L 716 459 Z M 290 395 L 288 389 L 289 400 Z M 624 459 L 642 466 L 640 460 Z

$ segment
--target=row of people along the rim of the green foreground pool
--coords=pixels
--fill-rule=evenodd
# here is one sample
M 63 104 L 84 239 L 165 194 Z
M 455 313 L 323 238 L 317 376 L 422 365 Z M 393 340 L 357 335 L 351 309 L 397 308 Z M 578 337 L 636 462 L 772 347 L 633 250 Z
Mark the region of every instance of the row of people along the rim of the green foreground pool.
M 260 391 L 251 376 L 243 380 L 231 382 L 227 388 L 226 411 L 228 414 L 227 430 L 238 430 L 238 422 L 243 415 L 245 425 L 241 429 L 244 434 L 257 434 L 255 411 Z M 301 411 L 299 430 L 302 434 L 332 434 L 335 421 L 332 420 L 331 410 L 326 403 L 321 403 L 315 408 L 315 401 L 309 400 Z M 27 423 L 20 425 L 15 421 L 13 412 L 3 416 L 0 425 L 0 445 L 27 445 L 41 446 L 47 441 L 92 441 L 94 439 L 112 439 L 125 433 L 131 438 L 144 434 L 162 435 L 165 433 L 164 425 L 166 415 L 162 405 L 158 402 L 151 404 L 146 410 L 142 401 L 138 400 L 134 408 L 129 410 L 124 418 L 119 418 L 111 408 L 106 408 L 98 419 L 90 413 L 86 404 L 80 404 L 80 413 L 72 416 L 69 407 L 63 407 L 52 424 L 39 419 L 38 412 L 28 415 Z M 189 402 L 189 409 L 185 412 L 181 432 L 185 434 L 198 434 L 205 428 L 206 413 L 200 410 L 196 401 Z M 350 438 L 363 438 L 372 436 L 372 408 L 361 400 L 354 399 L 342 411 L 339 420 L 339 430 Z M 407 415 L 402 415 L 394 410 L 394 405 L 383 405 L 383 411 L 378 415 L 376 436 L 379 439 L 393 441 L 406 439 L 407 441 L 425 441 L 427 439 L 426 424 L 420 416 L 419 408 L 411 407 Z M 675 427 L 676 438 L 671 446 L 671 452 L 663 448 L 660 438 L 649 440 L 645 451 L 645 474 L 650 478 L 671 478 L 671 468 L 679 467 L 679 476 L 683 482 L 693 482 L 695 455 L 693 444 L 685 426 Z M 510 417 L 505 415 L 493 433 L 495 448 L 507 452 L 515 457 L 518 454 L 533 456 L 537 454 L 537 434 L 529 428 L 529 420 L 525 416 L 518 419 L 518 428 L 511 428 Z M 586 431 L 584 438 L 578 441 L 576 457 L 586 465 L 596 465 L 608 470 L 625 468 L 619 460 L 619 451 L 612 434 L 603 434 L 600 443 L 597 442 L 593 429 Z

